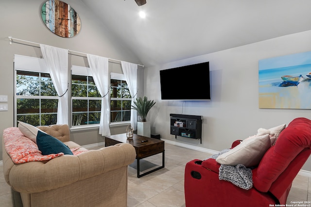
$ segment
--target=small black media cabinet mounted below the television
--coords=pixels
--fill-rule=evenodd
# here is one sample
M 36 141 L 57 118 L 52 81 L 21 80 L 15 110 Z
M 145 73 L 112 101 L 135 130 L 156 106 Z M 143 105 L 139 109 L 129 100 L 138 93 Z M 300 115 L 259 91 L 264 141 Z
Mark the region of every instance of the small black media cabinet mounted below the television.
M 171 134 L 200 139 L 202 143 L 202 116 L 171 113 Z

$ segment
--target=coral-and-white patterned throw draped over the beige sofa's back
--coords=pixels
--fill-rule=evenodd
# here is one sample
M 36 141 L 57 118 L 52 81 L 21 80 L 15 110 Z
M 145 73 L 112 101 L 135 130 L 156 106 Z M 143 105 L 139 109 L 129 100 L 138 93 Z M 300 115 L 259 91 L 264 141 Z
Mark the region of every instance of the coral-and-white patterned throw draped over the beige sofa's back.
M 42 155 L 38 146 L 25 137 L 17 127 L 4 129 L 3 139 L 6 152 L 16 164 L 50 160 L 64 155 L 62 152 L 58 154 Z

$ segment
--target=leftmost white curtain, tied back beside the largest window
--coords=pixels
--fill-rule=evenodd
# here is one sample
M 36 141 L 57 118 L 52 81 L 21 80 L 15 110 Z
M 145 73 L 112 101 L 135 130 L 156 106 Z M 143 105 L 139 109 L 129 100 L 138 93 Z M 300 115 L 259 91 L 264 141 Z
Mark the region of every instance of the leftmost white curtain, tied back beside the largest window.
M 41 52 L 59 96 L 57 124 L 68 125 L 68 49 L 40 44 Z

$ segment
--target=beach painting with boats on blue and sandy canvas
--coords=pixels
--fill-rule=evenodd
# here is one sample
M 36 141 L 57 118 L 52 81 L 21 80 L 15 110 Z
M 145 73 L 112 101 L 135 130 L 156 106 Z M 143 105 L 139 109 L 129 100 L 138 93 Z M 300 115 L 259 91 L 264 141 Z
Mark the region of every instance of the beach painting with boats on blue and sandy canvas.
M 259 60 L 259 108 L 311 109 L 311 51 Z

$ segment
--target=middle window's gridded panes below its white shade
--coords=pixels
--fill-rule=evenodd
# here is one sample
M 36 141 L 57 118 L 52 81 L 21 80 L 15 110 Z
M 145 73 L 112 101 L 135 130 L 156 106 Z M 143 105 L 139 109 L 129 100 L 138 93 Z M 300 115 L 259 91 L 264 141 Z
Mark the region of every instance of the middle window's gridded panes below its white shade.
M 99 124 L 102 98 L 91 76 L 71 75 L 72 126 Z

